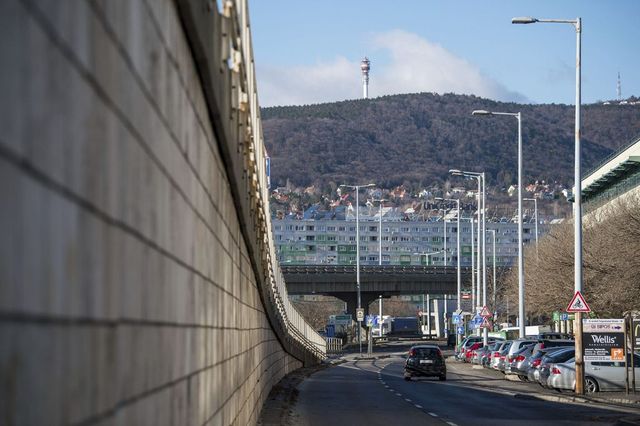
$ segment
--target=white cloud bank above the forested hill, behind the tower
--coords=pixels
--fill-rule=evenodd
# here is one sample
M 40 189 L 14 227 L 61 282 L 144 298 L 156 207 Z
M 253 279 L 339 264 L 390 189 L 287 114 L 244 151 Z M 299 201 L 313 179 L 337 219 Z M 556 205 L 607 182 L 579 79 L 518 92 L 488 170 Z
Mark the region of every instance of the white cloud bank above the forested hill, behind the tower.
M 480 69 L 415 34 L 390 31 L 372 38 L 371 97 L 398 93 L 436 92 L 474 94 L 501 101 L 526 102 L 516 92 L 482 74 Z M 376 52 L 390 58 L 376 64 Z M 258 90 L 262 106 L 334 102 L 362 96 L 360 58 L 314 66 L 278 68 L 258 66 Z

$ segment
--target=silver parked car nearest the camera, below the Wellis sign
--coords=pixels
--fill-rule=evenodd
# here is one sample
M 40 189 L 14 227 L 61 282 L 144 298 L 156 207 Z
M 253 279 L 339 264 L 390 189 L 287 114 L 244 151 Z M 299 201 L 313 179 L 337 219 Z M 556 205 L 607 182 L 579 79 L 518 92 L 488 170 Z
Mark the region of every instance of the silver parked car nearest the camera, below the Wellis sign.
M 631 357 L 628 357 L 631 365 Z M 640 384 L 640 355 L 634 354 L 634 375 L 636 387 Z M 620 391 L 625 388 L 624 361 L 585 361 L 584 390 L 588 393 L 598 391 Z M 631 377 L 629 384 L 631 385 Z M 558 390 L 575 390 L 576 360 L 571 358 L 562 363 L 551 364 L 547 385 Z

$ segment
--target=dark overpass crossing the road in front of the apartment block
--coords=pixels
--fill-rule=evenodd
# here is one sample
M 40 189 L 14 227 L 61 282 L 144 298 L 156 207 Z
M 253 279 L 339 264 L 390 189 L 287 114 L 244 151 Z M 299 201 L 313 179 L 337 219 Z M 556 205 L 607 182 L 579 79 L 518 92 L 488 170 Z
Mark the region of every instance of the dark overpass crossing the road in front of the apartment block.
M 289 294 L 324 294 L 347 302 L 354 315 L 357 307 L 356 267 L 338 265 L 282 266 Z M 470 279 L 471 268 L 461 270 L 462 282 Z M 454 266 L 360 266 L 361 306 L 382 297 L 401 294 L 457 294 Z

